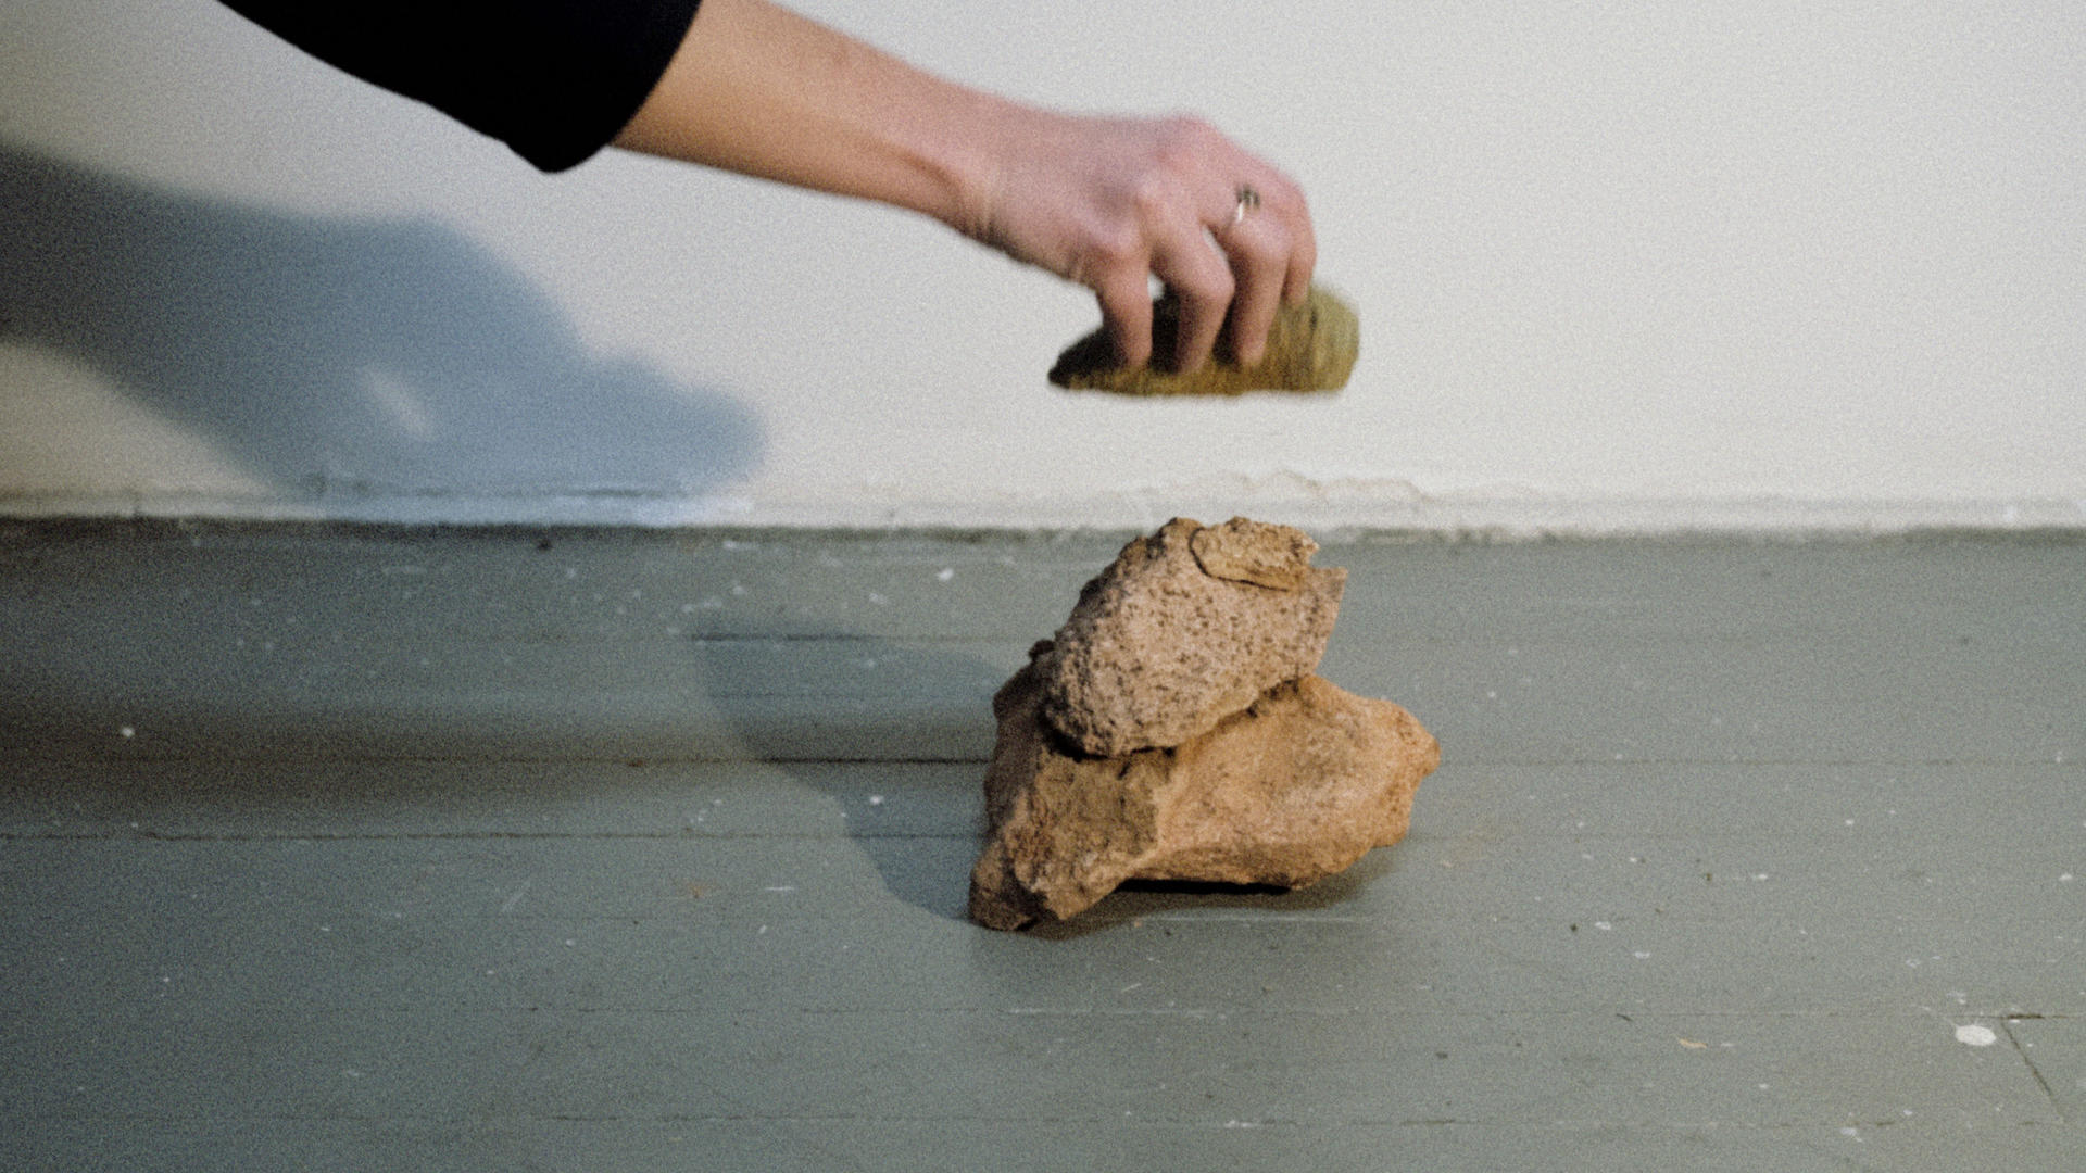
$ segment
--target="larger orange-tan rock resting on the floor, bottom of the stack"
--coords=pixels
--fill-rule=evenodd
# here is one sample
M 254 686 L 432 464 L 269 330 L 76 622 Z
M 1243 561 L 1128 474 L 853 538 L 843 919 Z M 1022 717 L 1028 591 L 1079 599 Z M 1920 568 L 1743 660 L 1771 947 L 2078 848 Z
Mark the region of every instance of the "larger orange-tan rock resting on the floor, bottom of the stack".
M 1318 676 L 1118 758 L 1066 747 L 1041 699 L 1039 660 L 993 697 L 991 835 L 970 877 L 970 916 L 991 929 L 1062 920 L 1131 879 L 1316 883 L 1402 839 L 1441 760 L 1412 714 Z

